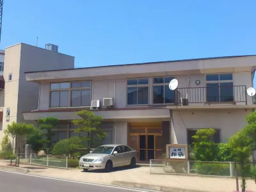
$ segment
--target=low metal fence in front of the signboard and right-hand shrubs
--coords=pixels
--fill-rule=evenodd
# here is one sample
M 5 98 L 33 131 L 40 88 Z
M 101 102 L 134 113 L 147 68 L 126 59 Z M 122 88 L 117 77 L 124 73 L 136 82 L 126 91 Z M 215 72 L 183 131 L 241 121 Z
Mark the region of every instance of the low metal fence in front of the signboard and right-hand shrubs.
M 246 176 L 256 178 L 256 164 L 246 163 Z M 243 170 L 244 171 L 244 170 Z M 150 173 L 240 177 L 241 165 L 234 162 L 150 159 Z

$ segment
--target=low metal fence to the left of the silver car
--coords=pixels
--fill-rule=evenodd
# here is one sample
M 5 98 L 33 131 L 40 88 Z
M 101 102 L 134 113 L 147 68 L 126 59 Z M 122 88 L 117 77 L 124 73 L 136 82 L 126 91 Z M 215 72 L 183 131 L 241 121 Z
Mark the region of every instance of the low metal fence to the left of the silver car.
M 39 154 L 17 154 L 19 164 L 31 164 L 37 166 L 46 166 L 54 168 L 68 168 L 67 156 L 51 156 Z

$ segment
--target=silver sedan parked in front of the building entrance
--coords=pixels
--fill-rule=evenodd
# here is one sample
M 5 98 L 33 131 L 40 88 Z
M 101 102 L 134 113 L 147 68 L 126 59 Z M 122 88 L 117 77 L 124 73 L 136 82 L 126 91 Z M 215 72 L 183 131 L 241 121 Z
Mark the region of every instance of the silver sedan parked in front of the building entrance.
M 138 161 L 136 150 L 126 145 L 101 145 L 79 159 L 79 167 L 84 172 L 89 169 L 105 169 L 109 172 L 113 167 L 129 165 L 135 168 Z

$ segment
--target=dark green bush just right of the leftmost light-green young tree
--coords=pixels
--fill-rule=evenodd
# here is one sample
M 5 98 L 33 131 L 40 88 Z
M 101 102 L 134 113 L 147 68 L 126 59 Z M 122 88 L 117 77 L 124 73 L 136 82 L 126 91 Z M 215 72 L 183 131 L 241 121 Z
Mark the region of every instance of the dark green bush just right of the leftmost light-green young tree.
M 30 145 L 34 152 L 38 152 L 44 148 L 45 143 L 49 143 L 50 141 L 44 139 L 44 134 L 40 129 L 35 128 L 33 132 L 28 134 L 27 143 Z

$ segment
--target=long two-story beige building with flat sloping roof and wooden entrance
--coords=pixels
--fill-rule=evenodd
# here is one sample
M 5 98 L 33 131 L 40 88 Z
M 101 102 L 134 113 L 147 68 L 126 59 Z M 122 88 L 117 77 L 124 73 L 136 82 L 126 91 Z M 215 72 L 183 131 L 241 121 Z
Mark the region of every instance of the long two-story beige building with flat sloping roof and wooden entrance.
M 40 95 L 35 110 L 23 115 L 34 121 L 58 118 L 54 144 L 77 135 L 71 124 L 79 118 L 76 111 L 92 109 L 102 116 L 102 129 L 108 134 L 98 145 L 130 145 L 138 150 L 140 161 L 161 159 L 165 144 L 191 144 L 197 129 L 216 129 L 216 143 L 242 129 L 245 116 L 255 108 L 246 95 L 253 86 L 255 66 L 256 56 L 231 56 L 28 70 L 26 81 L 39 84 Z M 173 78 L 179 81 L 175 91 L 168 87 Z

